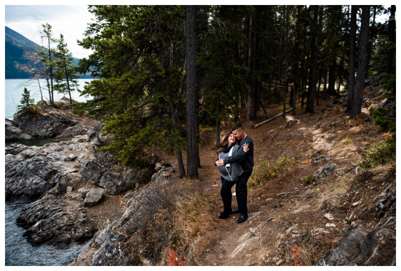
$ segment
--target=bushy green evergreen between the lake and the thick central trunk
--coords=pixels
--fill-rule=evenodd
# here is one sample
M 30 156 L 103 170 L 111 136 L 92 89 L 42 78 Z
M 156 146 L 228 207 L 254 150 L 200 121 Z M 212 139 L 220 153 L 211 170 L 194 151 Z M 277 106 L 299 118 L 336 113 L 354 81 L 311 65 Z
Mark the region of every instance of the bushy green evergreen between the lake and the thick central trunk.
M 185 147 L 182 88 L 185 60 L 184 8 L 181 6 L 90 6 L 96 17 L 79 42 L 94 53 L 80 61 L 81 72 L 99 79 L 83 95 L 97 99 L 78 104 L 105 120 L 111 141 L 101 150 L 124 164 L 147 165 L 151 148 L 179 152 Z

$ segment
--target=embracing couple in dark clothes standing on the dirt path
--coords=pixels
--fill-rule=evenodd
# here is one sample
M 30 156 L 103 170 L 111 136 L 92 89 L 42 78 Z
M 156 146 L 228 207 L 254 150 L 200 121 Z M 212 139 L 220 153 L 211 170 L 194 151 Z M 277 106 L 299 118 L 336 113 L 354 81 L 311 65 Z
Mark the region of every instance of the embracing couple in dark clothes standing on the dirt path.
M 247 182 L 254 167 L 254 142 L 245 131 L 242 124 L 237 123 L 226 134 L 217 151 L 219 158 L 216 165 L 219 167 L 222 179 L 220 194 L 223 200 L 224 211 L 219 218 L 225 219 L 232 213 L 239 213 L 237 223 L 242 223 L 248 218 L 247 208 Z M 231 188 L 236 185 L 238 208 L 231 208 Z

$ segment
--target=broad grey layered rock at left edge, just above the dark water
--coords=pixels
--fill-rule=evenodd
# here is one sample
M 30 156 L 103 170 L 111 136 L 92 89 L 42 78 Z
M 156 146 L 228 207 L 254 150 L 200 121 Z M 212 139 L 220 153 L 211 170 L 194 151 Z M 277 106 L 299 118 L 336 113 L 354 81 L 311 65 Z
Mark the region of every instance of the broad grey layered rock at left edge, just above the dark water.
M 64 163 L 69 149 L 85 149 L 80 138 L 71 142 L 48 143 L 43 147 L 11 144 L 6 147 L 6 200 L 37 199 L 46 192 L 66 192 L 67 187 L 82 187 L 87 181 Z M 82 156 L 84 158 L 84 156 Z

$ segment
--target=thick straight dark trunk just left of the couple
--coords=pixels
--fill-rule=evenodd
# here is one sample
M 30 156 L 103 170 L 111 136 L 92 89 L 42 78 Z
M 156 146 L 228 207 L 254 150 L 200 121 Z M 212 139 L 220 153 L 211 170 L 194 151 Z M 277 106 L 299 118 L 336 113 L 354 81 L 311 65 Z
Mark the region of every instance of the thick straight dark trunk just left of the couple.
M 197 87 L 196 87 L 196 40 L 195 6 L 186 6 L 186 171 L 189 178 L 198 177 L 197 150 Z

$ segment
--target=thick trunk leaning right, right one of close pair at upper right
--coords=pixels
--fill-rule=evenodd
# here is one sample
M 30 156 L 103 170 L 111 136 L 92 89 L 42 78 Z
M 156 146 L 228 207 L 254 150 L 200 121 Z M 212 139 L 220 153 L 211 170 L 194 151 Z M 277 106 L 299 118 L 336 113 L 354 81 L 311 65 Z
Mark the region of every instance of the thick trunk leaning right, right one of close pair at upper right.
M 359 61 L 358 72 L 356 74 L 354 98 L 352 101 L 352 109 L 350 118 L 356 118 L 362 111 L 362 98 L 363 87 L 365 85 L 366 69 L 368 52 L 367 46 L 369 42 L 369 19 L 370 19 L 370 6 L 362 6 L 362 18 L 360 25 L 360 39 L 359 39 Z

